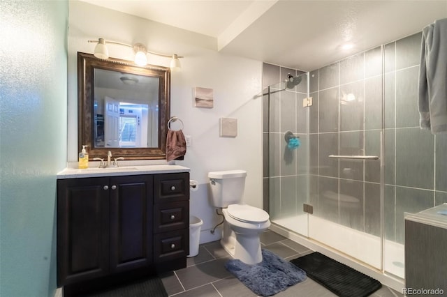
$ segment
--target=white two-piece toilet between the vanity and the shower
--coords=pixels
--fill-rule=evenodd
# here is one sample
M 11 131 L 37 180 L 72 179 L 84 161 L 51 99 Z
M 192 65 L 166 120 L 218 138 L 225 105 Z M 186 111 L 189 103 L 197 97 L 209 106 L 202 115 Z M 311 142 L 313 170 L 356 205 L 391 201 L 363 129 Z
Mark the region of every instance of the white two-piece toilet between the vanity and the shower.
M 212 206 L 222 208 L 225 221 L 221 245 L 235 259 L 245 264 L 263 260 L 259 234 L 270 227 L 269 215 L 261 208 L 242 204 L 244 170 L 210 172 Z

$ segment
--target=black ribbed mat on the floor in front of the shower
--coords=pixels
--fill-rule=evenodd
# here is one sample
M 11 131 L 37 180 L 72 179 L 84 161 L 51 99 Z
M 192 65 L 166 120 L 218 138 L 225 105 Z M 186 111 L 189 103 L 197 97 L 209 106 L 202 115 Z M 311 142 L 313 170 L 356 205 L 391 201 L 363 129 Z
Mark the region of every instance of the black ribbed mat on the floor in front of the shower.
M 306 271 L 312 280 L 341 297 L 365 297 L 382 287 L 374 278 L 319 252 L 307 254 L 291 262 Z

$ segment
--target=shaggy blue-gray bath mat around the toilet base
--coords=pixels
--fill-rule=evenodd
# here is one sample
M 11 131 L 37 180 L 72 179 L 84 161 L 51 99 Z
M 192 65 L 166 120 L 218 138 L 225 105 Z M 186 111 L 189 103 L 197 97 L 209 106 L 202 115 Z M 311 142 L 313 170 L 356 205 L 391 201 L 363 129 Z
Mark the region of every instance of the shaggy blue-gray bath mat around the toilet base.
M 226 262 L 225 268 L 254 294 L 261 296 L 272 296 L 306 279 L 306 273 L 301 268 L 268 250 L 262 250 L 262 253 L 261 263 L 248 265 L 231 259 Z

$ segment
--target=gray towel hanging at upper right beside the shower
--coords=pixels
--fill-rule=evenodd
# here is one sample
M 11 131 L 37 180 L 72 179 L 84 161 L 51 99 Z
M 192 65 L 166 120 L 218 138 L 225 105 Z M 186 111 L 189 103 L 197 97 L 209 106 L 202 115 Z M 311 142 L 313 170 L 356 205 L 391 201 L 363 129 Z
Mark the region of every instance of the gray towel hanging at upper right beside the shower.
M 418 92 L 420 128 L 447 132 L 447 19 L 423 29 Z

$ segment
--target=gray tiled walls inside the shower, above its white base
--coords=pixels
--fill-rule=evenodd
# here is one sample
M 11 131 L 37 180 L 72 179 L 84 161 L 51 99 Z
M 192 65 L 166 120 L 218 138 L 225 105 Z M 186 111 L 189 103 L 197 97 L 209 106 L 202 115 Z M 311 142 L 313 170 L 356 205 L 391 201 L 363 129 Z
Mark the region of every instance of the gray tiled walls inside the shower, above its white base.
M 263 130 L 264 205 L 268 205 L 270 195 L 270 200 L 278 200 L 271 201 L 270 207 L 281 208 L 270 210 L 270 213 L 278 216 L 299 212 L 302 201 L 307 199 L 300 196 L 307 193 L 300 193 L 299 189 L 305 188 L 303 183 L 309 182 L 309 202 L 314 205 L 314 215 L 379 235 L 379 162 L 357 161 L 344 166 L 344 162 L 349 161 L 329 159 L 328 155 L 380 155 L 383 123 L 386 238 L 404 243 L 405 212 L 418 212 L 447 202 L 447 134 L 435 136 L 419 128 L 420 39 L 420 33 L 416 33 L 311 71 L 309 95 L 314 98 L 314 105 L 308 107 L 309 134 L 305 131 L 307 126 L 299 124 L 305 123 L 303 119 L 306 119 L 302 114 L 306 109 L 298 108 L 305 93 L 295 95 L 297 109 L 291 108 L 291 98 L 285 98 L 288 102 L 280 101 L 279 110 L 270 109 L 270 127 L 273 125 L 273 128 L 269 132 L 264 124 Z M 265 63 L 263 85 L 279 82 L 278 77 L 282 80 L 290 71 Z M 348 93 L 355 93 L 358 103 L 346 104 Z M 277 94 L 271 96 L 270 107 L 274 106 L 274 100 L 284 100 L 275 96 Z M 265 119 L 268 110 L 265 103 Z M 281 125 L 287 124 L 286 121 L 293 122 L 293 114 L 284 114 L 290 110 L 295 110 L 295 124 L 298 124 L 293 132 L 300 134 L 302 143 L 309 141 L 309 152 L 302 150 L 294 155 L 297 160 L 291 166 L 295 166 L 296 176 L 291 174 L 293 170 L 284 161 L 285 142 L 281 141 L 284 136 Z M 272 123 L 276 118 L 279 120 Z M 274 125 L 279 126 L 274 128 Z M 351 146 L 351 143 L 359 145 Z M 281 161 L 278 163 L 272 158 Z M 309 159 L 309 176 L 304 174 L 305 167 L 300 167 L 300 158 Z M 344 172 L 345 167 L 350 167 L 351 171 Z M 269 175 L 273 176 L 270 183 Z M 288 199 L 287 204 L 282 205 L 284 195 L 291 196 L 293 191 L 297 193 L 297 199 Z M 356 193 L 362 211 L 352 216 L 344 213 L 343 208 L 337 211 L 324 208 L 318 193 L 325 191 L 339 196 L 346 191 Z

